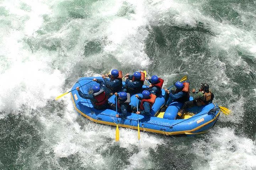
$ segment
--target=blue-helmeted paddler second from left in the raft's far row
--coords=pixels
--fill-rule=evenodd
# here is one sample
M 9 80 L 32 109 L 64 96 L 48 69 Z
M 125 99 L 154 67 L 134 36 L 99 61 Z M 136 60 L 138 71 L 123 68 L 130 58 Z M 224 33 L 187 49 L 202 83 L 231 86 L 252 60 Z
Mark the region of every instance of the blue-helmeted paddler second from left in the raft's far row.
M 126 74 L 126 91 L 131 94 L 142 92 L 142 86 L 145 81 L 145 73 L 135 72 L 133 75 Z

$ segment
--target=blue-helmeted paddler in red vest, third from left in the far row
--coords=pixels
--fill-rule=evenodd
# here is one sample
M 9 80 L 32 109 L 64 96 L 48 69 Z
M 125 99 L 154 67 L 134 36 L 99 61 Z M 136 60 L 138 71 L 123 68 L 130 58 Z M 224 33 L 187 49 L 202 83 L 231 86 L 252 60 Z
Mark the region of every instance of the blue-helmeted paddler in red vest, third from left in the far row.
M 162 95 L 162 85 L 164 84 L 164 80 L 158 78 L 157 75 L 153 75 L 148 81 L 151 83 L 148 89 L 150 94 L 156 95 L 156 97 Z

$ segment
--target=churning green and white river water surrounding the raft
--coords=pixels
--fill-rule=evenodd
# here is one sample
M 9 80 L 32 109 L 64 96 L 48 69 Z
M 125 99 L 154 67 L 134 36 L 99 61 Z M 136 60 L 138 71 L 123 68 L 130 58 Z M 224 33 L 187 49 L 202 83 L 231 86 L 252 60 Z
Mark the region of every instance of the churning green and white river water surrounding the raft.
M 0 1 L 0 169 L 256 169 L 256 1 Z M 194 137 L 92 123 L 82 76 L 147 70 L 208 82 L 233 112 Z

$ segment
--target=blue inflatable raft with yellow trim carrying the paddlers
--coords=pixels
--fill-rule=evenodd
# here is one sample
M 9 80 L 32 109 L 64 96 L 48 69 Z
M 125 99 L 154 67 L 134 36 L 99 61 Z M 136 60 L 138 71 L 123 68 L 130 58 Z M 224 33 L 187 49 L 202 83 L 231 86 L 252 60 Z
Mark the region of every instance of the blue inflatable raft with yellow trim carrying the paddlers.
M 102 79 L 101 77 L 80 78 L 71 90 L 74 90 L 77 86 L 82 86 L 86 83 L 89 83 L 93 78 Z M 82 86 L 80 90 L 84 94 L 88 94 L 91 91 L 92 85 L 94 84 L 96 84 L 96 82 L 92 81 L 91 83 Z M 142 96 L 142 94 L 138 95 Z M 170 107 L 166 109 L 166 113 L 160 113 L 160 109 L 162 106 L 164 106 L 165 103 L 165 95 L 165 91 L 162 90 L 162 96 L 156 98 L 156 101 L 150 111 L 150 117 L 144 117 L 143 115 L 139 114 L 140 131 L 148 131 L 164 135 L 195 135 L 204 133 L 208 129 L 212 128 L 219 118 L 220 108 L 213 103 L 209 103 L 201 107 L 190 108 L 190 113 L 184 114 L 183 119 L 166 119 L 165 114 L 173 115 L 171 112 L 176 111 L 173 103 L 171 103 Z M 91 101 L 81 98 L 76 90 L 71 92 L 71 96 L 76 111 L 91 121 L 113 126 L 118 124 L 119 127 L 137 129 L 138 124 L 136 113 L 128 113 L 126 119 L 116 118 L 116 111 L 111 109 L 95 109 Z M 113 95 L 108 99 L 108 101 L 110 103 L 115 103 L 114 98 L 115 96 Z M 130 105 L 136 107 L 135 94 L 131 95 Z

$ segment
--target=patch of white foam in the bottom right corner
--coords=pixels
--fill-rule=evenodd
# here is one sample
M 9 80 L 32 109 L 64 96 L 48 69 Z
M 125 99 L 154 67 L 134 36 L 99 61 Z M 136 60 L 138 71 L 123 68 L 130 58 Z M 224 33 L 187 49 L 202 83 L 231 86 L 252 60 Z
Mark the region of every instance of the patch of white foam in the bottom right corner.
M 207 135 L 207 141 L 194 143 L 194 154 L 198 159 L 207 159 L 207 164 L 195 166 L 197 169 L 255 169 L 255 142 L 237 136 L 234 129 L 214 128 Z

